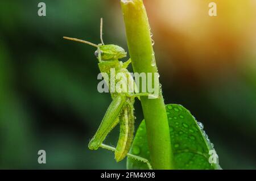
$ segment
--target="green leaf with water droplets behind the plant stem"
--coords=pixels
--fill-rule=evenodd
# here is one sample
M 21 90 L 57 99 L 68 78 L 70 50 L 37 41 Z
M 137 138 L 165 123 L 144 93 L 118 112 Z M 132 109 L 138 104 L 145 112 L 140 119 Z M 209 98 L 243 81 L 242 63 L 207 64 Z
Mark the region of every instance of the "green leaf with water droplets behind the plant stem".
M 166 105 L 166 111 L 175 169 L 221 169 L 218 165 L 218 157 L 213 144 L 203 131 L 203 124 L 197 122 L 195 117 L 183 106 L 168 104 Z M 209 154 L 210 150 L 215 155 L 213 153 Z M 146 158 L 150 162 L 144 120 L 137 130 L 130 154 Z M 214 156 L 217 162 L 209 163 L 209 159 L 214 161 Z M 127 169 L 148 169 L 148 166 L 146 163 L 129 157 L 127 158 Z

